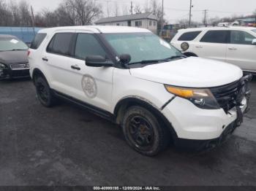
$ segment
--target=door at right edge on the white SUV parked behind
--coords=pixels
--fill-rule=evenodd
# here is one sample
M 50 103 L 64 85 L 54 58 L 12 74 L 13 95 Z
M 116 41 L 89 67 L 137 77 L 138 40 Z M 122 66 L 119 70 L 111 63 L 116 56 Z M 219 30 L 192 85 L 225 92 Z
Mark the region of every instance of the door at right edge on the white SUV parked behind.
M 253 39 L 256 39 L 256 36 L 246 31 L 230 31 L 226 61 L 243 70 L 256 71 L 256 46 L 252 44 Z

